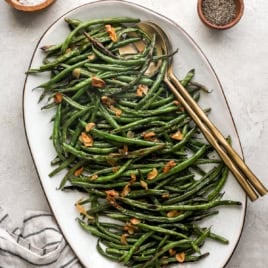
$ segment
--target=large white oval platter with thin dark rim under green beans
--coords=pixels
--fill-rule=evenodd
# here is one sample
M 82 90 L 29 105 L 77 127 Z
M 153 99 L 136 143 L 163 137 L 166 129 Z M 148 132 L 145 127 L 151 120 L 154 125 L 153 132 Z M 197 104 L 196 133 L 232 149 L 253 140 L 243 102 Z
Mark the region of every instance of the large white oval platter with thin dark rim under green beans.
M 205 55 L 181 27 L 168 18 L 144 7 L 129 2 L 110 0 L 91 2 L 71 10 L 54 22 L 41 37 L 34 51 L 30 67 L 37 67 L 42 62 L 43 53 L 39 47 L 62 42 L 67 36 L 69 30 L 64 22 L 64 17 L 89 20 L 113 16 L 137 17 L 141 20 L 154 21 L 165 30 L 173 47 L 179 48 L 179 53 L 174 57 L 175 72 L 182 78 L 187 71 L 195 68 L 196 81 L 213 89 L 212 93 L 202 97 L 201 105 L 212 108 L 210 119 L 225 135 L 231 135 L 234 148 L 242 155 L 239 138 L 223 89 Z M 46 74 L 27 76 L 23 97 L 27 140 L 45 195 L 65 238 L 85 267 L 122 267 L 120 264 L 100 256 L 96 251 L 96 239 L 85 233 L 78 225 L 75 220 L 78 214 L 74 203 L 81 196 L 76 192 L 65 193 L 57 190 L 63 173 L 53 178 L 48 177 L 48 173 L 52 170 L 50 161 L 55 156 L 52 142 L 49 139 L 52 133 L 52 124 L 50 123 L 52 111 L 40 110 L 43 105 L 38 104 L 40 91 L 32 90 L 47 79 L 48 75 Z M 226 265 L 241 236 L 246 211 L 246 196 L 232 175 L 225 186 L 225 192 L 226 199 L 241 201 L 242 207 L 221 208 L 219 215 L 209 219 L 206 226 L 212 226 L 214 232 L 228 238 L 230 243 L 221 245 L 207 241 L 202 247 L 202 252 L 210 252 L 207 258 L 198 263 L 178 264 L 174 267 L 221 268 Z

